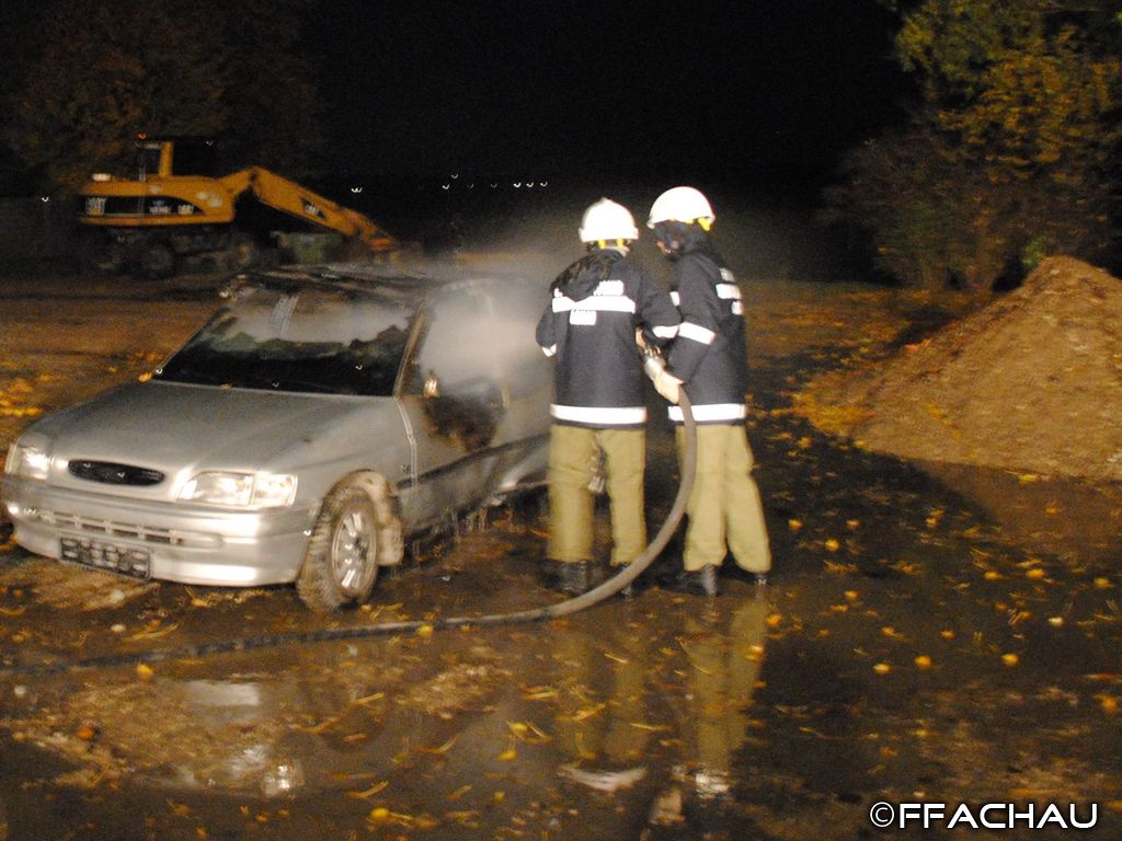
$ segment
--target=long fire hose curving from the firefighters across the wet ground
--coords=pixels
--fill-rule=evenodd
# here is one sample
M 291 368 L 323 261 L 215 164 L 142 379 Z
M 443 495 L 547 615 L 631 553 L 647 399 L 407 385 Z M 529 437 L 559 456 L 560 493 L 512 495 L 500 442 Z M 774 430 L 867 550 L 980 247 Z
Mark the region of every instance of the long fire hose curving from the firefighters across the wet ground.
M 325 643 L 342 639 L 361 639 L 365 637 L 389 636 L 394 634 L 415 632 L 422 628 L 433 630 L 442 628 L 460 628 L 465 626 L 489 626 L 489 625 L 514 625 L 517 622 L 539 622 L 546 619 L 558 619 L 571 616 L 578 611 L 590 608 L 605 599 L 615 595 L 625 586 L 637 579 L 647 566 L 659 556 L 671 536 L 678 528 L 678 524 L 686 512 L 686 503 L 689 500 L 690 490 L 693 487 L 693 474 L 697 469 L 697 428 L 693 422 L 693 414 L 690 409 L 689 398 L 682 389 L 679 396 L 679 405 L 682 408 L 684 425 L 684 445 L 682 447 L 681 475 L 679 478 L 678 495 L 674 497 L 670 514 L 663 520 L 662 527 L 655 534 L 643 553 L 632 563 L 622 569 L 618 573 L 601 582 L 587 593 L 567 599 L 565 601 L 546 604 L 542 608 L 518 610 L 511 613 L 489 613 L 472 617 L 450 617 L 447 619 L 432 620 L 404 620 L 397 622 L 380 622 L 379 625 L 368 625 L 353 628 L 329 628 L 318 631 L 293 631 L 291 634 L 272 634 L 259 637 L 245 637 L 240 639 L 226 639 L 219 643 L 206 643 L 199 646 L 169 648 L 156 651 L 136 651 L 130 654 L 114 654 L 104 657 L 91 657 L 89 659 L 73 663 L 53 663 L 37 666 L 13 666 L 0 668 L 3 672 L 18 674 L 48 675 L 81 668 L 111 668 L 114 666 L 126 666 L 140 663 L 155 663 L 158 660 L 197 659 L 219 654 L 233 651 L 250 651 L 261 648 L 275 648 L 293 643 Z

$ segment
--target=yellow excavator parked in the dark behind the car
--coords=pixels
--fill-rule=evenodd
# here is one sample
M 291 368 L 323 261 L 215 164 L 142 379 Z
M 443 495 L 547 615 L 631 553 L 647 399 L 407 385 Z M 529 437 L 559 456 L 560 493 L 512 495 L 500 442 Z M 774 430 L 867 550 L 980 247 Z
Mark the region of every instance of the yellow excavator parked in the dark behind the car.
M 81 191 L 79 222 L 90 229 L 83 250 L 102 270 L 129 269 L 157 279 L 194 257 L 234 271 L 267 261 L 268 233 L 242 219 L 252 215 L 245 202 L 249 196 L 313 229 L 341 234 L 349 257 L 385 259 L 401 249 L 361 213 L 268 169 L 215 175 L 213 139 L 140 135 L 137 149 L 135 179 L 95 173 Z

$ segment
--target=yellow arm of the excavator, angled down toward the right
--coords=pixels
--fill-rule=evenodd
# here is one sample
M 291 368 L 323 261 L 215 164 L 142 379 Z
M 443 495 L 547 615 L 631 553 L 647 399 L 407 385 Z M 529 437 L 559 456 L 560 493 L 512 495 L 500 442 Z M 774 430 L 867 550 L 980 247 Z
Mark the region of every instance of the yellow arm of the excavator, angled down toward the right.
M 232 200 L 249 191 L 261 204 L 321 228 L 338 231 L 344 237 L 358 239 L 375 253 L 395 251 L 399 248 L 397 240 L 361 213 L 343 207 L 263 167 L 239 169 L 219 181 L 229 191 Z

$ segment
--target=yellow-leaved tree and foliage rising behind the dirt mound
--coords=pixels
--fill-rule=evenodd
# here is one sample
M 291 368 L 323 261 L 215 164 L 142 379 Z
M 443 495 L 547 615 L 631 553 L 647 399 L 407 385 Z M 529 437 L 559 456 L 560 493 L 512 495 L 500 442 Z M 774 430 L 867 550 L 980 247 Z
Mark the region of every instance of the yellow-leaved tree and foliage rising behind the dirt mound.
M 903 131 L 845 161 L 831 218 L 873 233 L 907 283 L 981 294 L 1045 251 L 1112 239 L 1122 17 L 1092 0 L 923 0 L 895 52 L 919 85 Z

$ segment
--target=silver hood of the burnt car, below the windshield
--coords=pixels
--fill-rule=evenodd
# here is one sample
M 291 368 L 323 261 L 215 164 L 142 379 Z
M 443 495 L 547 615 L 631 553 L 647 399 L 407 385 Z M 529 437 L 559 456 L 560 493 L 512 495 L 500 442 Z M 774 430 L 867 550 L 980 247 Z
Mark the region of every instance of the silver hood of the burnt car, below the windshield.
M 274 469 L 278 453 L 313 437 L 371 404 L 390 398 L 278 394 L 145 382 L 107 391 L 39 420 L 34 433 L 52 454 L 175 473 L 185 468 Z M 396 414 L 396 413 L 395 413 Z

